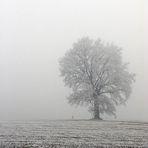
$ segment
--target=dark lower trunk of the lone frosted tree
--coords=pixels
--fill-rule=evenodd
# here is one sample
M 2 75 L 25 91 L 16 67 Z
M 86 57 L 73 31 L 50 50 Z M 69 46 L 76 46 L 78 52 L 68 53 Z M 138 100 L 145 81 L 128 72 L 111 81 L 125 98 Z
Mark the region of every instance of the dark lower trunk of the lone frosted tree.
M 99 100 L 98 100 L 97 95 L 94 95 L 94 119 L 95 120 L 102 120 L 100 118 Z

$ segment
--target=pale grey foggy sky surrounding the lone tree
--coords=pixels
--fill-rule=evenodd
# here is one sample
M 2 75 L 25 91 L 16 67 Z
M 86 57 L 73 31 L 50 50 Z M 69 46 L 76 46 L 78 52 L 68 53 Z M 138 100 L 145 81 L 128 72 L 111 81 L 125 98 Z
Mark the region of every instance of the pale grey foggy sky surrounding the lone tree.
M 136 73 L 116 120 L 148 121 L 148 2 L 145 0 L 1 0 L 0 119 L 91 118 L 70 106 L 58 60 L 89 36 L 123 48 Z M 114 119 L 114 117 L 106 117 Z

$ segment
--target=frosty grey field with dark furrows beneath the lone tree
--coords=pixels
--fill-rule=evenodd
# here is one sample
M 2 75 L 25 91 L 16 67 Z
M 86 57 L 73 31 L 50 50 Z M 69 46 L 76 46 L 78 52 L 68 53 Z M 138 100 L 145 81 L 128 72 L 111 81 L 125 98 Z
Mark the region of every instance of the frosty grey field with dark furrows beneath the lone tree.
M 148 147 L 148 123 L 115 121 L 0 122 L 0 147 Z

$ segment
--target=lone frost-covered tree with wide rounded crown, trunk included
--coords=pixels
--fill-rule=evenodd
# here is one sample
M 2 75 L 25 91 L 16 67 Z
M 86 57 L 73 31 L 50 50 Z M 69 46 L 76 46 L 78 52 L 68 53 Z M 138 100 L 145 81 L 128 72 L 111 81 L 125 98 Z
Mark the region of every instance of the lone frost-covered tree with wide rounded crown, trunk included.
M 72 89 L 70 104 L 89 105 L 94 119 L 115 115 L 131 93 L 134 74 L 123 63 L 121 48 L 101 40 L 80 39 L 60 60 L 64 82 Z

